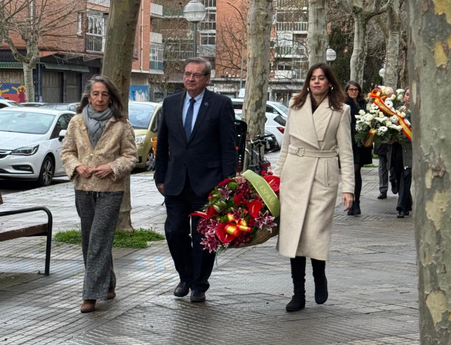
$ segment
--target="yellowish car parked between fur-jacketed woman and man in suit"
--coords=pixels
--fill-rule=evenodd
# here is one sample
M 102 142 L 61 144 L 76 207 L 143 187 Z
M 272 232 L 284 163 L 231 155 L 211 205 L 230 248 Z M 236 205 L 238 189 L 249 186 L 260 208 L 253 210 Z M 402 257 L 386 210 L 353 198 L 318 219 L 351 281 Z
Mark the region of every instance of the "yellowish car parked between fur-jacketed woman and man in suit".
M 133 126 L 138 148 L 137 168 L 155 170 L 156 136 L 161 120 L 161 107 L 161 104 L 155 102 L 129 101 L 129 121 Z

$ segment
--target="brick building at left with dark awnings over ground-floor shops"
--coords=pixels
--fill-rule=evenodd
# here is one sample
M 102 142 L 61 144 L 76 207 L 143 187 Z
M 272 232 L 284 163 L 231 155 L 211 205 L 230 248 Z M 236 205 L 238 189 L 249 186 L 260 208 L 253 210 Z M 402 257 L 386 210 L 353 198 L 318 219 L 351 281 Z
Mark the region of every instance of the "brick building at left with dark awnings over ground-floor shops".
M 55 6 L 67 6 L 70 12 L 63 17 L 61 12 L 55 11 L 55 16 L 61 18 L 61 25 L 42 24 L 52 29 L 41 36 L 38 43 L 39 59 L 33 69 L 36 101 L 77 102 L 87 80 L 101 73 L 110 0 L 84 0 L 78 2 L 77 7 L 70 3 L 70 0 L 49 0 L 46 5 L 49 6 L 45 9 L 47 13 L 55 11 Z M 162 18 L 162 6 L 142 0 L 133 51 L 131 99 L 149 100 L 149 76 L 163 73 L 161 34 L 152 32 L 155 18 Z M 11 39 L 25 55 L 21 37 L 15 35 Z M 23 101 L 23 94 L 12 91 L 23 83 L 22 64 L 3 43 L 0 47 L 0 95 Z M 7 89 L 9 91 L 5 92 Z

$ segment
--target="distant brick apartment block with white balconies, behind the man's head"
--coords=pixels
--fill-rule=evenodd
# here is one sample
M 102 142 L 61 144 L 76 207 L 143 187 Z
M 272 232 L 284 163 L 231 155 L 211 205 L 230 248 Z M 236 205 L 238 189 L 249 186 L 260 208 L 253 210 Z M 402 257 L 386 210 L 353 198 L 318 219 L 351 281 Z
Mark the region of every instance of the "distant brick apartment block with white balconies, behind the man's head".
M 158 1 L 165 8 L 165 19 L 163 20 L 170 22 L 168 26 L 174 28 L 175 18 L 178 18 L 181 23 L 185 23 L 184 40 L 186 43 L 184 44 L 184 54 L 180 54 L 180 60 L 193 56 L 193 28 L 183 17 L 183 7 L 188 0 L 181 2 Z M 201 2 L 205 5 L 207 14 L 204 20 L 198 24 L 197 55 L 207 58 L 212 63 L 213 70 L 209 88 L 229 97 L 237 97 L 242 60 L 243 85 L 246 78 L 246 20 L 249 2 L 246 0 L 201 0 Z M 287 103 L 291 94 L 299 90 L 304 83 L 308 69 L 308 59 L 305 54 L 308 9 L 304 4 L 305 1 L 302 0 L 274 1 L 271 75 L 268 89 L 270 100 Z M 170 45 L 172 32 L 164 25 L 161 27 L 163 28 L 161 31 L 163 41 Z M 181 73 L 173 73 L 170 82 L 177 85 L 175 90 L 179 89 L 182 83 Z

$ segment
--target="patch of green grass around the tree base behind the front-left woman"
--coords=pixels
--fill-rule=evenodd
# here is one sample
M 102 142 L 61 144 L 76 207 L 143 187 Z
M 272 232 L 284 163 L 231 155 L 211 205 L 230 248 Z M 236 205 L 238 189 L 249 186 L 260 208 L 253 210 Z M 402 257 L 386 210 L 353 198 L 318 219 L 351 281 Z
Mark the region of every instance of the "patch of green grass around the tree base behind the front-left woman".
M 114 235 L 113 247 L 146 248 L 147 242 L 162 239 L 165 239 L 163 235 L 150 229 L 140 228 L 136 229 L 133 233 L 117 230 Z M 53 240 L 56 242 L 81 244 L 82 235 L 80 230 L 60 231 L 56 233 Z

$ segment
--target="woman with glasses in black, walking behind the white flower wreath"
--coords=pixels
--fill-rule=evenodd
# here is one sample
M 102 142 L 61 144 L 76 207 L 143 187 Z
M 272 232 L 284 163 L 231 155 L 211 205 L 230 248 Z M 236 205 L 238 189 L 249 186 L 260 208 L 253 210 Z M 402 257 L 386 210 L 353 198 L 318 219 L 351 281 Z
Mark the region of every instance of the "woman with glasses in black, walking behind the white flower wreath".
M 373 154 L 371 152 L 373 147 L 364 147 L 362 143 L 355 140 L 355 115 L 359 114 L 359 110 L 365 110 L 365 101 L 362 94 L 362 88 L 359 83 L 351 80 L 345 86 L 346 101 L 345 104 L 351 107 L 351 137 L 352 137 L 352 152 L 354 155 L 354 202 L 352 207 L 348 210 L 348 216 L 357 216 L 361 214 L 360 211 L 360 193 L 362 191 L 362 174 L 360 169 L 365 164 L 373 163 Z

